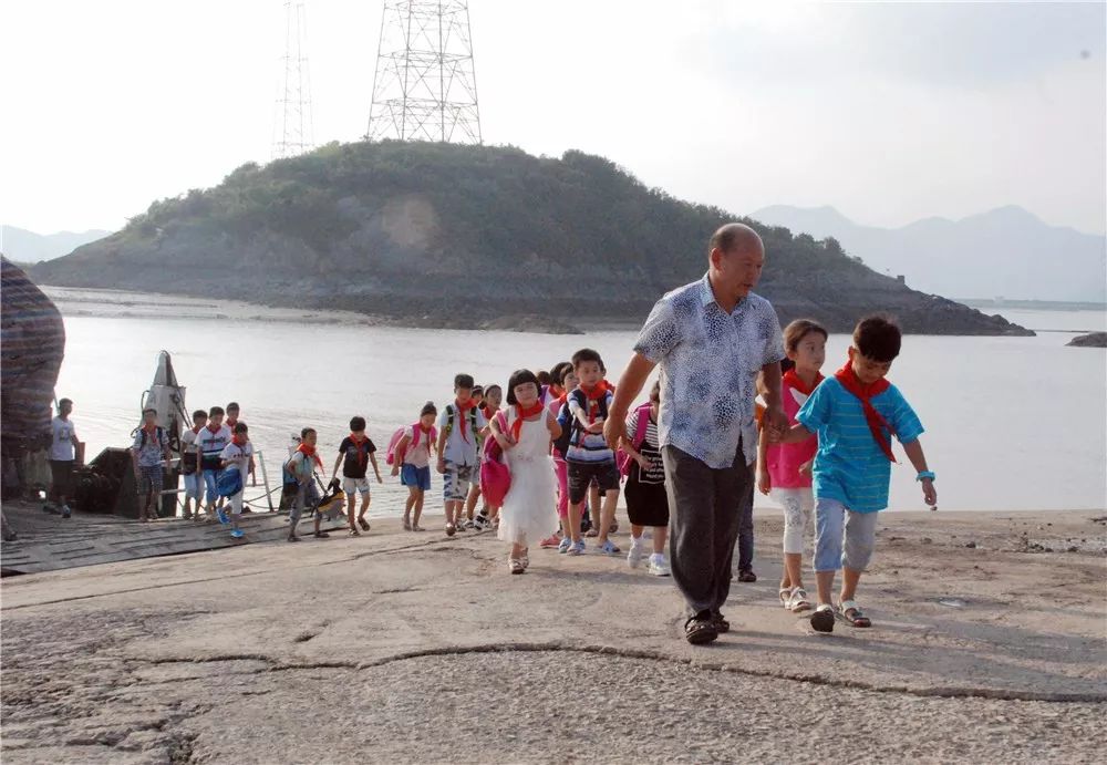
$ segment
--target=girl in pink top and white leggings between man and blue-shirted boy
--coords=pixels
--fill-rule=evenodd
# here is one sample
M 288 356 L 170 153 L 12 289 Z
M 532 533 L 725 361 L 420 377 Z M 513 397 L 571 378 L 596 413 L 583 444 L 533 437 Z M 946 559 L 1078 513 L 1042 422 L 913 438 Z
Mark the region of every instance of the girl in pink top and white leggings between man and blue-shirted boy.
M 792 369 L 780 385 L 784 413 L 792 424 L 796 414 L 823 382 L 819 370 L 826 361 L 827 331 L 808 319 L 797 319 L 784 329 L 784 348 Z M 788 362 L 784 362 L 787 364 Z M 784 508 L 784 576 L 780 579 L 780 604 L 789 611 L 811 607 L 804 590 L 801 558 L 804 533 L 815 508 L 811 493 L 811 461 L 818 449 L 815 437 L 798 444 L 768 444 L 763 430 L 757 461 L 757 489 L 773 497 Z

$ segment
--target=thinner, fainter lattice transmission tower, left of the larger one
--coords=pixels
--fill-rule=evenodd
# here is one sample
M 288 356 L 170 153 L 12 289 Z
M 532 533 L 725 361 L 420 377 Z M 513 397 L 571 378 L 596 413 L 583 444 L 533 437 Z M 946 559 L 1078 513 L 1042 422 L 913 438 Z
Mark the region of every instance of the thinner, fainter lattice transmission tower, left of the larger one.
M 273 158 L 312 148 L 311 80 L 308 75 L 308 15 L 303 0 L 284 0 L 283 87 L 277 99 Z

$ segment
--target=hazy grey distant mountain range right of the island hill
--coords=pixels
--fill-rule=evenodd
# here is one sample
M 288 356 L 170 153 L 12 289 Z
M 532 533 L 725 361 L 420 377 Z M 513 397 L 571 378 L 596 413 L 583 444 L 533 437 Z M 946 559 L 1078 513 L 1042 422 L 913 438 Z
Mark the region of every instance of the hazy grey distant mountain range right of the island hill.
M 834 207 L 775 205 L 751 218 L 832 237 L 873 270 L 956 299 L 1107 301 L 1107 237 L 1049 226 L 1022 207 L 902 228 L 853 223 Z

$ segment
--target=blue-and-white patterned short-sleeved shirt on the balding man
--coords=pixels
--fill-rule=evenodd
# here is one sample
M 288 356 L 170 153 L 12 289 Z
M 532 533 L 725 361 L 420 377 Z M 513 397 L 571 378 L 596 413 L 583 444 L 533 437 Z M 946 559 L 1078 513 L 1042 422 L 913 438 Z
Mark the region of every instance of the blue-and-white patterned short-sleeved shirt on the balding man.
M 723 469 L 741 438 L 746 464 L 757 459 L 757 373 L 784 358 L 772 303 L 751 292 L 727 314 L 705 275 L 658 301 L 634 351 L 661 365 L 662 446 Z

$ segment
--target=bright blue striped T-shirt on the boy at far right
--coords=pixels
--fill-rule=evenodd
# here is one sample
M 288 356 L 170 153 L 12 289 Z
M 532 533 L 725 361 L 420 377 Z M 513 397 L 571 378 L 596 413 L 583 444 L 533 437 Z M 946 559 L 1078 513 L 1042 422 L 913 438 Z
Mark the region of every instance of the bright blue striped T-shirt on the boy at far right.
M 922 435 L 922 423 L 894 385 L 873 396 L 872 407 L 888 421 L 901 444 Z M 819 436 L 814 466 L 816 497 L 837 499 L 855 513 L 888 507 L 891 463 L 872 437 L 860 399 L 836 379 L 827 378 L 796 420 Z

